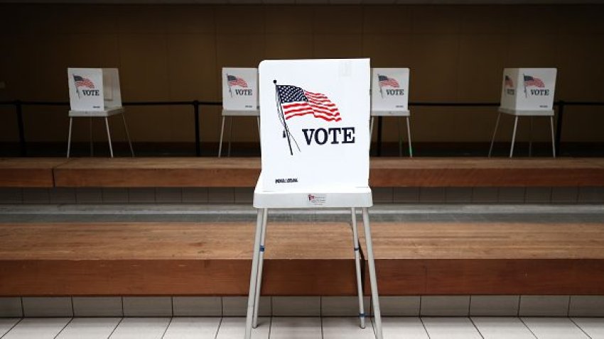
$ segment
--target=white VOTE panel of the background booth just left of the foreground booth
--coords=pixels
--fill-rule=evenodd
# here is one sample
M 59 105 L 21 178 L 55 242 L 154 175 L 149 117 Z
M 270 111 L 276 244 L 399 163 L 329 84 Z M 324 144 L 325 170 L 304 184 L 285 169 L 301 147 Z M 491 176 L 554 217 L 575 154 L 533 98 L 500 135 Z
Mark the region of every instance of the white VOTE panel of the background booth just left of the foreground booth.
M 233 111 L 258 109 L 258 69 L 222 68 L 222 107 Z

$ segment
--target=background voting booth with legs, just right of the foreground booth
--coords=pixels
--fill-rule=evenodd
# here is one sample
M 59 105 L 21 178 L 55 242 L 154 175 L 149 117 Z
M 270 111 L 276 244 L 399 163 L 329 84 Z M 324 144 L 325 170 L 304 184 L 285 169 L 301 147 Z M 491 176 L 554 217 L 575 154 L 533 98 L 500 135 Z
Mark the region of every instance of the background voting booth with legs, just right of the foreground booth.
M 374 68 L 372 69 L 371 90 L 371 131 L 376 116 L 394 116 L 399 130 L 399 155 L 402 155 L 400 117 L 407 122 L 407 140 L 409 156 L 413 157 L 411 148 L 411 128 L 409 127 L 409 68 Z

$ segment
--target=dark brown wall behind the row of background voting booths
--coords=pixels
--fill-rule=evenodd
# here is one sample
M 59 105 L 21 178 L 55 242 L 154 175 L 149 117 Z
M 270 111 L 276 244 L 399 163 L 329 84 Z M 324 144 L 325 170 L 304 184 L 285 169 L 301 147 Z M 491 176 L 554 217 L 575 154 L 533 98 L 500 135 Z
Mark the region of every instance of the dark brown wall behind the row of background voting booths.
M 218 101 L 223 66 L 371 57 L 373 67 L 411 68 L 411 101 L 499 101 L 504 67 L 558 67 L 557 99 L 603 101 L 602 18 L 604 6 L 0 5 L 0 99 L 66 101 L 67 67 L 119 67 L 124 101 Z M 188 107 L 128 112 L 136 141 L 193 140 Z M 604 109 L 566 113 L 563 140 L 604 141 Z M 495 116 L 417 108 L 412 133 L 417 141 L 483 142 Z M 201 122 L 203 140 L 217 140 L 219 109 L 203 108 Z M 65 109 L 28 108 L 25 123 L 28 140 L 66 139 Z M 257 140 L 254 123 L 237 120 L 236 140 Z M 536 121 L 537 140 L 548 140 L 547 127 Z M 396 140 L 396 123 L 384 133 Z M 75 139 L 86 138 L 80 122 Z M 124 138 L 119 128 L 115 138 Z M 14 116 L 0 107 L 0 141 L 16 139 Z

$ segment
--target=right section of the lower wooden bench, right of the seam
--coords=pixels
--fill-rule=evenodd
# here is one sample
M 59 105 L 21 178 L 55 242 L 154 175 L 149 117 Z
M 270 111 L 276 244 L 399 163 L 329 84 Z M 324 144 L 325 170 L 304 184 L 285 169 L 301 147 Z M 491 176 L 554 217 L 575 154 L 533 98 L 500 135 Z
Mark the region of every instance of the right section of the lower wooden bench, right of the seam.
M 372 230 L 383 295 L 604 294 L 603 224 L 374 223 Z

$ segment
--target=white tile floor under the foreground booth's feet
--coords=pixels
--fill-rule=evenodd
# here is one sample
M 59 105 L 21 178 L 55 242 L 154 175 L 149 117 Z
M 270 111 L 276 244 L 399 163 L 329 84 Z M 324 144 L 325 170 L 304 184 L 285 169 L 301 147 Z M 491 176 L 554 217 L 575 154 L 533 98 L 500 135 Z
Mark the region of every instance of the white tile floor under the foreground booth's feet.
M 604 318 L 384 317 L 386 339 L 604 339 Z M 241 339 L 244 317 L 0 318 L 0 338 Z M 355 317 L 264 317 L 254 339 L 372 339 Z

